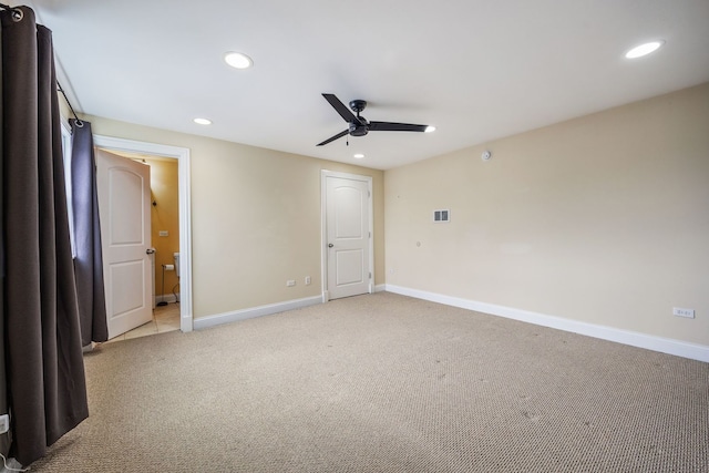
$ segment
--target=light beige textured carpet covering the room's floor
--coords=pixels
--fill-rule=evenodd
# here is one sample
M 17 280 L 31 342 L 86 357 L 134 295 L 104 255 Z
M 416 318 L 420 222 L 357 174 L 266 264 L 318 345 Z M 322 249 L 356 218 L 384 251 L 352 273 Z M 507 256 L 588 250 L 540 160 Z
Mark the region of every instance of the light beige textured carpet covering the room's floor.
M 392 294 L 85 363 L 33 472 L 709 471 L 709 364 Z

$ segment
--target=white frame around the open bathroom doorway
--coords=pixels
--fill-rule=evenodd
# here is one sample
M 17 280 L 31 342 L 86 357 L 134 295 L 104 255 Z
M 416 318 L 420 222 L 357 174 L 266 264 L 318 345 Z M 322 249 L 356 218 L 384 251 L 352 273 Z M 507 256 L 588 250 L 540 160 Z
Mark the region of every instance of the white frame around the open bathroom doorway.
M 141 153 L 177 160 L 179 205 L 179 330 L 193 330 L 192 294 L 192 204 L 189 189 L 189 148 L 165 144 L 93 135 L 93 144 L 106 151 Z

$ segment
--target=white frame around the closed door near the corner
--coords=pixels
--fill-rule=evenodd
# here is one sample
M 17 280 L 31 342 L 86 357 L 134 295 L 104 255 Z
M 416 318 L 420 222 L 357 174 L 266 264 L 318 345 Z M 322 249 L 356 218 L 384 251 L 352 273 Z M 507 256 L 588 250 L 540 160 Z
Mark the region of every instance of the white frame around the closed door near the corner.
M 360 174 L 342 173 L 339 171 L 320 172 L 320 228 L 321 228 L 321 257 L 320 257 L 320 279 L 322 281 L 322 302 L 330 300 L 330 292 L 328 290 L 328 227 L 327 227 L 327 178 L 339 177 L 343 179 L 360 181 L 367 183 L 367 192 L 369 193 L 369 268 L 366 268 L 372 276 L 369 278 L 368 292 L 374 291 L 374 195 L 372 194 L 372 177 L 363 176 Z

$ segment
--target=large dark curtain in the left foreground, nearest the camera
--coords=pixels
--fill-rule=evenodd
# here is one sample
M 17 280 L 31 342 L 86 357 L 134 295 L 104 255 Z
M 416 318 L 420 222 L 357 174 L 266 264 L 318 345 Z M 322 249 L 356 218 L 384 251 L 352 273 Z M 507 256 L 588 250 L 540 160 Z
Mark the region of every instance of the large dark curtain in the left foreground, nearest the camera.
M 23 465 L 89 415 L 51 31 L 1 11 L 6 367 Z

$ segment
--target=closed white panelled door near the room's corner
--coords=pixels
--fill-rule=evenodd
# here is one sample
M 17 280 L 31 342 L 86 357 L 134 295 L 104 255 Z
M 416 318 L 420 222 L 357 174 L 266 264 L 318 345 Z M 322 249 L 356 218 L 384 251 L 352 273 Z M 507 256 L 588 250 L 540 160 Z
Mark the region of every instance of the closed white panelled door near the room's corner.
M 326 175 L 329 299 L 371 292 L 371 192 L 366 177 Z

